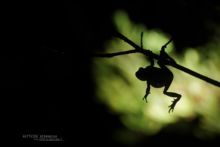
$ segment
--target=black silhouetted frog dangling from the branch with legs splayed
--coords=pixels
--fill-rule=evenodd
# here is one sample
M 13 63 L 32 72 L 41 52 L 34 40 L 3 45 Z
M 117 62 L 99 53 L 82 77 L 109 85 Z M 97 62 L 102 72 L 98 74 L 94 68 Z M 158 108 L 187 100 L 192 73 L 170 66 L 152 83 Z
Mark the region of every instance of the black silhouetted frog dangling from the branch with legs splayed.
M 173 73 L 166 67 L 166 63 L 176 64 L 175 60 L 171 58 L 162 48 L 160 51 L 159 59 L 157 64 L 158 67 L 154 66 L 154 59 L 150 58 L 151 64 L 145 68 L 140 67 L 135 73 L 135 76 L 141 80 L 146 81 L 147 88 L 143 100 L 147 102 L 147 97 L 150 94 L 151 86 L 154 88 L 162 88 L 163 94 L 174 98 L 171 105 L 169 105 L 169 113 L 174 111 L 177 102 L 181 99 L 181 94 L 175 92 L 169 92 L 168 89 L 171 86 L 174 76 Z

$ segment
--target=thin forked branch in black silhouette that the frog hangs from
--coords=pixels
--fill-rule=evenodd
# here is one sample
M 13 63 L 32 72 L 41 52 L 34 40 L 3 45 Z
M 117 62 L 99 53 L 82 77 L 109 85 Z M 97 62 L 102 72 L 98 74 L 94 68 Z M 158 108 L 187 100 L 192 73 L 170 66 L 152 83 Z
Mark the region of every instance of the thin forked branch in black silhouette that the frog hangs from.
M 134 47 L 133 50 L 128 50 L 128 51 L 122 51 L 122 52 L 117 52 L 117 53 L 106 53 L 106 54 L 95 54 L 96 57 L 115 57 L 115 56 L 119 56 L 119 55 L 126 55 L 126 54 L 132 54 L 132 53 L 142 53 L 145 56 L 148 56 L 150 58 L 154 58 L 156 60 L 159 60 L 161 57 L 157 54 L 154 54 L 152 51 L 148 50 L 148 49 L 143 49 L 142 47 L 139 47 L 137 44 L 135 44 L 134 42 L 132 42 L 131 40 L 129 40 L 127 37 L 125 37 L 124 35 L 120 34 L 119 32 L 115 32 L 115 36 L 120 38 L 121 40 L 125 41 L 126 43 L 128 43 L 129 45 L 131 45 L 132 47 Z M 170 39 L 165 45 L 162 46 L 162 50 L 166 48 L 166 46 L 172 41 L 172 39 Z M 141 43 L 142 44 L 142 43 Z M 142 46 L 142 45 L 141 45 Z M 169 65 L 172 66 L 176 69 L 179 69 L 185 73 L 188 73 L 194 77 L 197 77 L 203 81 L 206 81 L 212 85 L 215 85 L 217 87 L 220 87 L 220 82 L 213 80 L 209 77 L 206 77 L 200 73 L 197 73 L 191 69 L 188 69 L 184 66 L 181 66 L 177 63 L 173 63 L 170 62 L 169 60 L 165 60 L 165 65 Z

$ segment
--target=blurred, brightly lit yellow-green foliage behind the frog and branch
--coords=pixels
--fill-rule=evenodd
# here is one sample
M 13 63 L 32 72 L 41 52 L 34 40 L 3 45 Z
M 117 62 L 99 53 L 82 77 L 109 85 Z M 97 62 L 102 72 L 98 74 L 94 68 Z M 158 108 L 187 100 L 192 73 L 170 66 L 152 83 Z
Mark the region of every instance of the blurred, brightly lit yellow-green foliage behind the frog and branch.
M 144 32 L 143 48 L 159 53 L 160 48 L 169 39 L 168 34 L 160 30 L 148 30 L 141 24 L 134 24 L 122 10 L 113 16 L 115 27 L 136 44 L 140 44 L 140 34 Z M 220 80 L 220 44 L 207 44 L 200 52 L 199 48 L 187 48 L 181 55 L 175 53 L 171 43 L 167 52 L 177 63 L 215 80 Z M 120 39 L 106 42 L 105 53 L 132 49 Z M 204 52 L 206 51 L 206 52 Z M 187 122 L 185 128 L 197 118 L 199 121 L 191 130 L 196 137 L 207 138 L 220 134 L 220 89 L 196 77 L 169 67 L 174 74 L 174 81 L 168 91 L 180 93 L 182 98 L 173 113 L 168 113 L 172 98 L 163 94 L 163 88 L 151 88 L 148 103 L 142 100 L 146 83 L 135 77 L 139 67 L 146 67 L 149 62 L 141 54 L 129 54 L 113 58 L 95 58 L 93 76 L 96 82 L 98 101 L 105 104 L 111 113 L 117 114 L 127 128 L 116 131 L 116 136 L 138 140 L 137 133 L 154 135 L 164 127 L 181 121 Z M 128 133 L 128 130 L 132 133 Z M 124 136 L 125 135 L 125 136 Z M 120 139 L 119 139 L 120 140 Z M 127 140 L 127 139 L 125 139 Z

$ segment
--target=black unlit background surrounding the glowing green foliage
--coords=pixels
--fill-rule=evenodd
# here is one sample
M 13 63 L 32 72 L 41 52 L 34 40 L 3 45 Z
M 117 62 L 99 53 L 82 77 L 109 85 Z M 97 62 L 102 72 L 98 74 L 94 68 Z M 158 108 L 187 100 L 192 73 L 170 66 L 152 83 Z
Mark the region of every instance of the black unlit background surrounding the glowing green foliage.
M 104 41 L 112 37 L 115 10 L 126 10 L 133 21 L 169 33 L 180 54 L 185 47 L 210 41 L 215 31 L 207 24 L 218 24 L 220 15 L 217 3 L 208 0 L 16 2 L 3 6 L 3 136 L 26 143 L 29 140 L 23 134 L 57 134 L 64 139 L 62 143 L 80 146 L 120 145 L 111 133 L 122 126 L 117 116 L 94 102 L 91 76 L 95 70 L 91 53 L 103 50 Z M 190 131 L 166 130 L 139 146 L 171 140 L 202 144 L 217 139 L 199 140 Z

